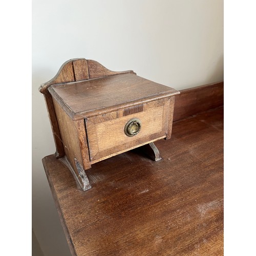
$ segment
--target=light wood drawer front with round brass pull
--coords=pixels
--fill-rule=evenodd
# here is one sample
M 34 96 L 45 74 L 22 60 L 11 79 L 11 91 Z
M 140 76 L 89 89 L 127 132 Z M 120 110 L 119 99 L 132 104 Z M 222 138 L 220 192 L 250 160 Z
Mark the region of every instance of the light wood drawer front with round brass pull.
M 97 162 L 142 144 L 165 138 L 169 110 L 170 100 L 165 98 L 86 119 L 90 160 Z M 134 127 L 140 126 L 136 135 L 132 133 L 133 123 L 129 125 L 133 120 L 135 120 Z M 130 135 L 127 129 L 130 129 Z

